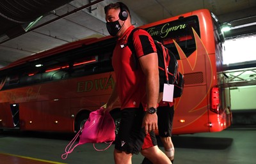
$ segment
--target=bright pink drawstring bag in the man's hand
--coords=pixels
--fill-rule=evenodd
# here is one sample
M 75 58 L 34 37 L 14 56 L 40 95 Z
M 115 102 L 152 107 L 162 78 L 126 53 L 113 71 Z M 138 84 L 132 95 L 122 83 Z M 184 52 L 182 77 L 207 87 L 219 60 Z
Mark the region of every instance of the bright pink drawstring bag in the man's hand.
M 79 137 L 78 144 L 74 145 Z M 77 147 L 86 143 L 93 143 L 93 147 L 97 151 L 104 151 L 110 147 L 115 140 L 115 123 L 109 112 L 104 112 L 102 108 L 90 113 L 88 120 L 84 123 L 83 128 L 79 130 L 76 136 L 70 141 L 65 148 L 65 153 L 61 158 L 65 160 L 68 154 Z M 109 144 L 105 149 L 96 149 L 96 143 Z M 72 147 L 74 145 L 74 147 Z

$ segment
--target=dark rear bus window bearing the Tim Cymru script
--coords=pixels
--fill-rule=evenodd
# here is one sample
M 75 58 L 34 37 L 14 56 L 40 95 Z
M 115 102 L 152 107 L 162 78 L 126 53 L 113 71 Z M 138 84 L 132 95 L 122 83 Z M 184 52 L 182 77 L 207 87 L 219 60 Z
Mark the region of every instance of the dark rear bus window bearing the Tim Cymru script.
M 198 17 L 196 16 L 180 17 L 178 20 L 148 27 L 146 30 L 154 40 L 163 43 L 179 59 L 180 57 L 173 41 L 176 41 L 186 54 L 186 57 L 189 57 L 196 50 L 193 29 L 200 36 Z

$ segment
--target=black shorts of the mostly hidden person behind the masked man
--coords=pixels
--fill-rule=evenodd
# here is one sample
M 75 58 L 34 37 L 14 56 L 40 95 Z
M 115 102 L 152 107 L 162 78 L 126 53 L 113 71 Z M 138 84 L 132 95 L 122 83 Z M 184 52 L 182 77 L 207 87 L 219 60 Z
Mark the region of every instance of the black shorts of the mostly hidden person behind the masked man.
M 172 122 L 174 115 L 174 105 L 172 107 L 167 106 L 157 108 L 158 117 L 158 133 L 160 137 L 171 137 L 172 136 Z

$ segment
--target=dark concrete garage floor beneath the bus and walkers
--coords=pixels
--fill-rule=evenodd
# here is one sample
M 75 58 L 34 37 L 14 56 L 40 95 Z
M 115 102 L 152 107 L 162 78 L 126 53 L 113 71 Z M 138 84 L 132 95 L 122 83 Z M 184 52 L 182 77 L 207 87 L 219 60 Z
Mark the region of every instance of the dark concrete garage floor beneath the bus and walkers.
M 79 145 L 67 160 L 62 160 L 61 154 L 65 153 L 65 147 L 72 137 L 74 134 L 2 131 L 0 164 L 114 163 L 114 145 L 106 151 L 95 151 L 92 144 Z M 218 133 L 173 136 L 174 163 L 255 164 L 255 138 L 256 128 L 229 128 Z M 96 146 L 100 149 L 106 145 Z M 163 149 L 161 145 L 159 147 Z M 134 155 L 132 163 L 140 164 L 142 160 L 143 156 Z

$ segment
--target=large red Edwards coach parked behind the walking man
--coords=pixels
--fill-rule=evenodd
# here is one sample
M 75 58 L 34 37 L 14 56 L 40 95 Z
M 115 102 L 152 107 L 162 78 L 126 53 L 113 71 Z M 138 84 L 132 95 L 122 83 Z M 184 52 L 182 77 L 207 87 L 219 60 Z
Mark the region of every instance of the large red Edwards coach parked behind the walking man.
M 184 74 L 175 100 L 173 134 L 221 131 L 231 124 L 222 71 L 220 23 L 197 10 L 142 26 L 172 50 Z M 28 56 L 0 69 L 0 128 L 76 132 L 104 105 L 115 84 L 116 38 L 90 38 Z M 120 108 L 111 112 L 118 130 Z

